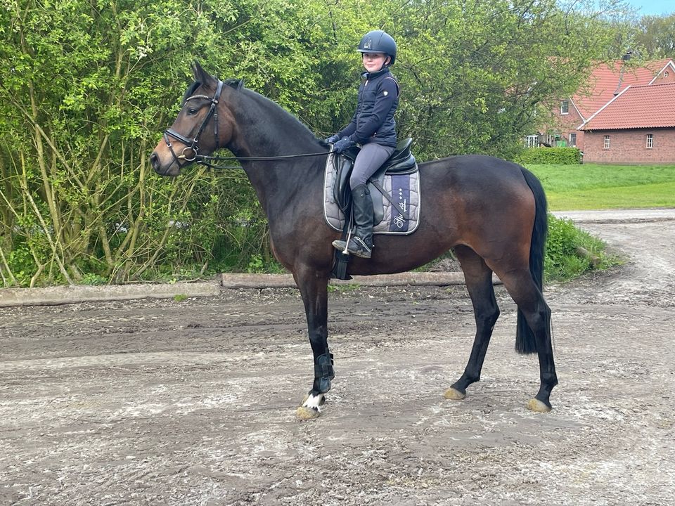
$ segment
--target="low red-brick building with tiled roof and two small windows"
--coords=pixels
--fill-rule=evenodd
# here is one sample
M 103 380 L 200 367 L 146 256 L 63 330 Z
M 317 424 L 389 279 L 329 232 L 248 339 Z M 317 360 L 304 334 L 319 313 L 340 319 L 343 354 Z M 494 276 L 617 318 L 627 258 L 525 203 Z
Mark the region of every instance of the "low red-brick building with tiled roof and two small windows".
M 584 162 L 675 163 L 675 82 L 626 86 L 579 131 Z

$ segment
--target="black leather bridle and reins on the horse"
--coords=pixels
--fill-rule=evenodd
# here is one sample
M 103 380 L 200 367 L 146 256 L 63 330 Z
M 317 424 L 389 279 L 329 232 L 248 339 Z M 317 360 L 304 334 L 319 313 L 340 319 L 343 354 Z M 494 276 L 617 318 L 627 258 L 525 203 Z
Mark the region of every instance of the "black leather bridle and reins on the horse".
M 208 155 L 200 155 L 199 154 L 199 137 L 201 136 L 202 132 L 204 131 L 206 125 L 210 120 L 213 118 L 213 136 L 216 142 L 216 147 L 214 148 L 214 151 L 217 151 L 220 148 L 220 141 L 218 137 L 218 100 L 220 99 L 221 93 L 223 92 L 223 86 L 224 82 L 222 82 L 220 79 L 218 80 L 218 86 L 213 94 L 212 97 L 207 96 L 207 95 L 193 95 L 191 97 L 188 97 L 184 100 L 183 105 L 187 103 L 189 100 L 196 100 L 198 98 L 203 98 L 205 100 L 209 100 L 211 105 L 209 108 L 209 112 L 207 112 L 206 116 L 204 117 L 202 124 L 199 126 L 199 129 L 197 131 L 197 134 L 195 134 L 194 138 L 190 139 L 184 136 L 183 134 L 179 134 L 177 131 L 171 128 L 167 128 L 164 131 L 164 141 L 167 143 L 167 148 L 169 148 L 169 151 L 171 151 L 172 156 L 174 157 L 174 160 L 178 163 L 179 167 L 181 169 L 188 163 L 195 162 L 196 164 L 200 165 L 205 165 L 206 167 L 209 167 L 210 169 L 238 169 L 240 167 L 237 167 L 236 165 L 216 165 L 213 164 L 212 162 L 217 162 L 217 161 L 225 161 L 225 160 L 238 160 L 238 161 L 250 161 L 250 162 L 266 162 L 266 161 L 272 161 L 272 160 L 284 160 L 284 159 L 293 159 L 293 158 L 303 158 L 303 157 L 315 157 L 315 156 L 324 156 L 328 155 L 330 151 L 326 151 L 323 153 L 302 153 L 300 155 L 278 155 L 278 156 L 268 156 L 268 157 L 238 157 L 238 156 L 233 156 L 233 157 L 214 157 L 214 156 L 208 156 Z M 185 145 L 185 148 L 181 151 L 180 155 L 176 155 L 176 152 L 174 151 L 174 147 L 171 143 L 171 138 L 174 138 L 177 141 L 180 141 Z M 332 150 L 332 149 L 331 149 Z

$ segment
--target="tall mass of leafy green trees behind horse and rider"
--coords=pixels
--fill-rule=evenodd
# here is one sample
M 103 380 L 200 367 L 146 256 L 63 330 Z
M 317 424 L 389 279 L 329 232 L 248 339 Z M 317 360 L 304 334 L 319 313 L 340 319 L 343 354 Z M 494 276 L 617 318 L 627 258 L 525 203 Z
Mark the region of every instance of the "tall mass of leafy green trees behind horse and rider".
M 244 77 L 325 136 L 356 104 L 356 44 L 383 28 L 400 48 L 400 134 L 416 139 L 420 160 L 510 157 L 541 119 L 537 106 L 577 89 L 615 37 L 584 5 L 0 0 L 3 282 L 269 264 L 264 216 L 242 173 L 195 168 L 172 181 L 148 167 L 194 58 Z

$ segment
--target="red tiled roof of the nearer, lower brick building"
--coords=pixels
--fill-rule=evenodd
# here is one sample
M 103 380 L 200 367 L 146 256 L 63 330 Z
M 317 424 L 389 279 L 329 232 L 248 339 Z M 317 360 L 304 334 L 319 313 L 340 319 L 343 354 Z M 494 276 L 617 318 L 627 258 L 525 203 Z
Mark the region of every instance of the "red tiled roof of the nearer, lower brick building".
M 581 130 L 675 126 L 675 83 L 629 86 L 596 112 Z

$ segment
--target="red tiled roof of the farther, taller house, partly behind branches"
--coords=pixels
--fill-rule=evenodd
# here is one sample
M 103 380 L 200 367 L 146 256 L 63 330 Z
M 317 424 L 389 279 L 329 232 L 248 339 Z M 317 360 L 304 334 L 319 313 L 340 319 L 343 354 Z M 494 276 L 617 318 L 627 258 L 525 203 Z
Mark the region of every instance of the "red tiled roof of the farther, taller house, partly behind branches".
M 594 112 L 612 100 L 615 93 L 626 89 L 626 86 L 650 84 L 652 79 L 670 61 L 670 59 L 655 60 L 645 63 L 642 67 L 626 67 L 623 74 L 621 69 L 624 61 L 617 60 L 610 64 L 603 63 L 591 72 L 588 88 L 577 91 L 577 94 L 572 97 L 574 105 L 581 115 L 588 119 Z M 621 79 L 620 84 L 619 78 Z

